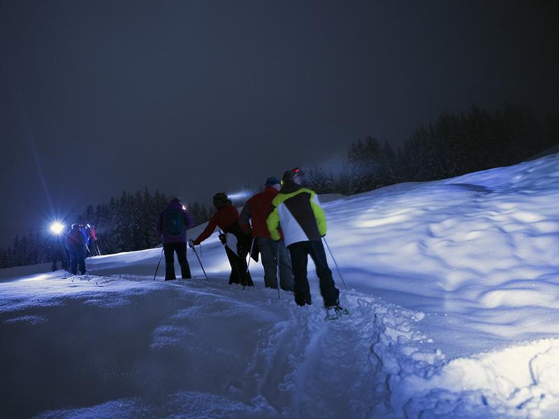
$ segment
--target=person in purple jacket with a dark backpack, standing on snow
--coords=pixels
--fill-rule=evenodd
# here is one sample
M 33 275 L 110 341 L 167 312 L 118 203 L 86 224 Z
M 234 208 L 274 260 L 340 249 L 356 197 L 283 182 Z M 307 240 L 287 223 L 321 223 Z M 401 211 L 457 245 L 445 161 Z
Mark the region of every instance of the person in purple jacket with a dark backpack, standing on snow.
M 165 253 L 165 280 L 175 278 L 175 252 L 180 264 L 182 279 L 190 279 L 187 260 L 187 229 L 194 226 L 194 219 L 182 205 L 179 198 L 173 198 L 166 209 L 159 214 L 155 230 L 163 241 Z

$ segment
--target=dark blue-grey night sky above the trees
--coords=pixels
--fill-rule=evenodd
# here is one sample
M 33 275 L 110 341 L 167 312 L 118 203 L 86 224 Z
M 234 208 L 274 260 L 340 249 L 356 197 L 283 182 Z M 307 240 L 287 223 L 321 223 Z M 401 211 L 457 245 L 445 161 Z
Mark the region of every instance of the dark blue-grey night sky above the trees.
M 472 103 L 559 111 L 551 0 L 0 0 L 0 36 L 0 246 L 124 190 L 209 204 L 331 168 Z

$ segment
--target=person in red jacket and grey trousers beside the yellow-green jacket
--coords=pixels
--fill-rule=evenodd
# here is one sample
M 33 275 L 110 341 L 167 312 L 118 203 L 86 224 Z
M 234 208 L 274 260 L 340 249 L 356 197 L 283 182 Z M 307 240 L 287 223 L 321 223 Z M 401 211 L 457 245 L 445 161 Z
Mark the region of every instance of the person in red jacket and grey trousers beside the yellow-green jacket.
M 277 177 L 268 177 L 264 190 L 249 198 L 245 207 L 242 208 L 239 224 L 243 233 L 252 234 L 253 240 L 256 240 L 264 267 L 264 284 L 268 288 L 277 288 L 277 265 L 279 264 L 279 286 L 282 290 L 293 291 L 291 260 L 289 260 L 284 241 L 272 240 L 268 226 L 266 226 L 272 200 L 277 196 L 279 188 L 281 188 L 281 181 Z M 279 260 L 277 260 L 278 256 Z

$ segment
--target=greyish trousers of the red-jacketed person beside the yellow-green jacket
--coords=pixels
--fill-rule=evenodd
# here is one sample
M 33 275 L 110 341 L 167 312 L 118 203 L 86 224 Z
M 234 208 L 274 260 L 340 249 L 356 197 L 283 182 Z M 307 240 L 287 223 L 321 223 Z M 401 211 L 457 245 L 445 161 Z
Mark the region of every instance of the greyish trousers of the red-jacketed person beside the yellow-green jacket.
M 283 240 L 275 242 L 270 237 L 257 237 L 256 242 L 264 267 L 264 284 L 268 288 L 277 288 L 277 265 L 279 265 L 279 286 L 284 291 L 293 291 L 291 260 Z M 278 256 L 279 260 L 277 260 Z

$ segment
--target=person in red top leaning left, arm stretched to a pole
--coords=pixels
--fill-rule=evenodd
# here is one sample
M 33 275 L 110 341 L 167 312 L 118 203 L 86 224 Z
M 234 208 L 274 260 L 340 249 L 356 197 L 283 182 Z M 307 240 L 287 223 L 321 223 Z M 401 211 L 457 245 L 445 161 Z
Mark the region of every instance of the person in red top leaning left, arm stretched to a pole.
M 214 196 L 216 212 L 212 214 L 208 226 L 203 232 L 190 242 L 191 246 L 197 246 L 206 240 L 214 232 L 216 227 L 223 230 L 219 240 L 225 245 L 225 252 L 231 265 L 229 284 L 242 284 L 253 286 L 250 272 L 247 272 L 247 254 L 250 250 L 251 239 L 242 233 L 239 226 L 239 212 L 225 193 L 219 192 Z M 228 234 L 230 233 L 230 234 Z M 231 237 L 233 235 L 234 237 Z M 227 239 L 226 237 L 229 236 Z M 236 239 L 236 244 L 233 241 Z

